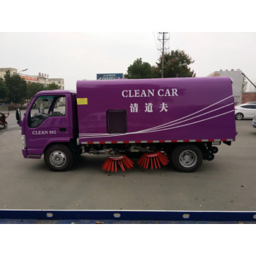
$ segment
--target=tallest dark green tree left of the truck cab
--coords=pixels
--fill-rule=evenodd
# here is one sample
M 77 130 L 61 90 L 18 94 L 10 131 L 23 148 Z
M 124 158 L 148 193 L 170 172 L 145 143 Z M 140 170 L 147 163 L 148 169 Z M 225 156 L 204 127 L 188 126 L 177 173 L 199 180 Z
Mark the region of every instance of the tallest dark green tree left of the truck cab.
M 4 80 L 6 82 L 6 86 L 9 89 L 9 102 L 13 102 L 13 105 L 14 103 L 15 105 L 18 103 L 23 105 L 26 100 L 26 81 L 18 74 L 10 75 L 9 71 L 6 71 L 6 75 L 4 75 Z

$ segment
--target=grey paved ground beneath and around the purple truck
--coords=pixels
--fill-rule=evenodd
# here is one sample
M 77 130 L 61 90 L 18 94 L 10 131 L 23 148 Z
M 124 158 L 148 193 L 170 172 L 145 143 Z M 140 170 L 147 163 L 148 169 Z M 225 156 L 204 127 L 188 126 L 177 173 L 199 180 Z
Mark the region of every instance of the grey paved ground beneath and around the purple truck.
M 107 156 L 81 156 L 55 173 L 43 159 L 23 159 L 21 128 L 11 112 L 0 129 L 0 208 L 43 210 L 256 210 L 256 129 L 237 121 L 237 140 L 192 174 L 171 166 L 107 174 Z M 135 160 L 135 159 L 134 159 Z

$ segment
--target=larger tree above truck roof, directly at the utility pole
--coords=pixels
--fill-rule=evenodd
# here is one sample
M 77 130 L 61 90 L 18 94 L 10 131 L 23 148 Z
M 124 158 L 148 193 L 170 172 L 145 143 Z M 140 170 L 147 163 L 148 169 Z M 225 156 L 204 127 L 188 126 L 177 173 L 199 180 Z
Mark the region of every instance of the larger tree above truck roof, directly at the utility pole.
M 183 50 L 171 50 L 171 53 L 164 54 L 164 78 L 188 78 L 195 77 L 196 73 L 188 67 L 194 60 Z M 162 58 L 160 57 L 153 73 L 161 78 Z

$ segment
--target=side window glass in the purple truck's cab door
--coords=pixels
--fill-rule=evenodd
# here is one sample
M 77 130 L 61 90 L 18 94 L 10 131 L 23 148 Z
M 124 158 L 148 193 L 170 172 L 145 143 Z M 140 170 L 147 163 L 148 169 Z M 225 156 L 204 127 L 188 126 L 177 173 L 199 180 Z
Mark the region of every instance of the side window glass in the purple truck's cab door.
M 65 96 L 39 96 L 28 114 L 28 127 L 36 128 L 48 117 L 63 117 L 65 114 Z

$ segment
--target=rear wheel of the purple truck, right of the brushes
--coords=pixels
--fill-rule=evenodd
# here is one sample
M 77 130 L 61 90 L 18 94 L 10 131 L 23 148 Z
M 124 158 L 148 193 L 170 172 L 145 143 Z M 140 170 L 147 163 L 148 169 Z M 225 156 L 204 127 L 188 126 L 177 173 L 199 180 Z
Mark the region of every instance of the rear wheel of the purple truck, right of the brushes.
M 195 144 L 181 144 L 171 154 L 171 162 L 177 171 L 193 172 L 203 161 L 203 152 Z

